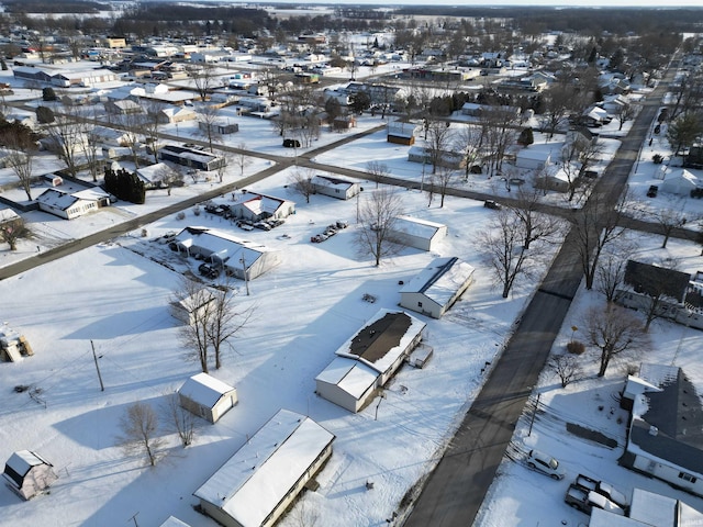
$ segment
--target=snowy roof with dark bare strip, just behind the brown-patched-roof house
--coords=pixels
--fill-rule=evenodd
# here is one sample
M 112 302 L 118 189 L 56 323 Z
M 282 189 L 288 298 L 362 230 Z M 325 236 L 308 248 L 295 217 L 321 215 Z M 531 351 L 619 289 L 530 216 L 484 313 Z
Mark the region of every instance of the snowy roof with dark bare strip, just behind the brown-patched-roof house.
M 424 293 L 438 305 L 446 305 L 471 279 L 476 269 L 456 257 L 436 258 L 402 289 L 401 293 Z

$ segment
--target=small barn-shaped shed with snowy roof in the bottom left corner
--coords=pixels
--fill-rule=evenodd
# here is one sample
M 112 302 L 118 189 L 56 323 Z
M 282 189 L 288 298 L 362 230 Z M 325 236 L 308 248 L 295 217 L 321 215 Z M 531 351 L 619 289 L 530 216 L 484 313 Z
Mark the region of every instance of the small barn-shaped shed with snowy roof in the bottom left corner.
M 12 492 L 24 500 L 31 500 L 58 479 L 53 468 L 38 453 L 19 450 L 8 459 L 2 475 Z

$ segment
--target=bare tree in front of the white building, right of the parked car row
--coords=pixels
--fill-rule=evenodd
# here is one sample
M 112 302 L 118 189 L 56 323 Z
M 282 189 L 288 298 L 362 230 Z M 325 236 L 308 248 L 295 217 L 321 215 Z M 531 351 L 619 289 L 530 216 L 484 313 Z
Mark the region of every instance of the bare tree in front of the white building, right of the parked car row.
M 394 237 L 395 217 L 402 212 L 398 193 L 387 188 L 376 189 L 368 194 L 359 210 L 359 228 L 356 244 L 359 254 L 371 256 L 378 267 L 381 259 L 393 256 L 402 248 Z

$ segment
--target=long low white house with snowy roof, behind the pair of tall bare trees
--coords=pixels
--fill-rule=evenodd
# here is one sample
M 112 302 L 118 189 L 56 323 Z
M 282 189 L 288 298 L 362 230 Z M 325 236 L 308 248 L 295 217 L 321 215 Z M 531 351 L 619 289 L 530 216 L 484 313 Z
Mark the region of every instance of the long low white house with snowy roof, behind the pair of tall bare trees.
M 245 272 L 247 280 L 254 280 L 281 262 L 279 250 L 208 227 L 183 228 L 176 235 L 174 248 L 185 256 L 202 255 L 239 280 L 245 279 Z

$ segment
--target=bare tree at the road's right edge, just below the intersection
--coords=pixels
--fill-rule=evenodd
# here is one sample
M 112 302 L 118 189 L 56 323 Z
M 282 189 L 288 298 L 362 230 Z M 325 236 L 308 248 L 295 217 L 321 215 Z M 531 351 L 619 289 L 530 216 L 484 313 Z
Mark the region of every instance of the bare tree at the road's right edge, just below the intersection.
M 591 194 L 585 206 L 574 211 L 570 216 L 571 232 L 569 236 L 573 237 L 588 290 L 593 289 L 595 270 L 603 249 L 625 232 L 620 226 L 620 220 L 624 214 L 624 203 L 626 202 L 627 193 L 611 208 L 607 203 L 607 197 L 594 193 Z

